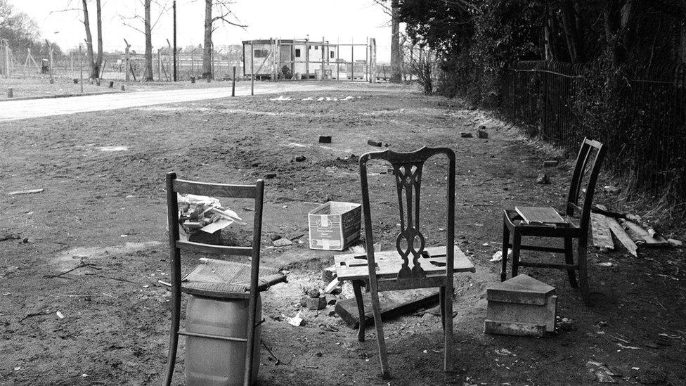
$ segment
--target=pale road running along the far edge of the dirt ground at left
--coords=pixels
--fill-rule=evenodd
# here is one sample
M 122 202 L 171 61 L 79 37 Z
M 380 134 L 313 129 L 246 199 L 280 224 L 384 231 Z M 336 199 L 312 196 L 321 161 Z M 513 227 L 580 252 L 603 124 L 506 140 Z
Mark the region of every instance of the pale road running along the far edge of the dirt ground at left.
M 277 94 L 289 91 L 309 91 L 335 89 L 333 84 L 319 82 L 312 84 L 295 83 L 255 83 L 255 95 Z M 236 96 L 250 96 L 250 83 L 236 84 Z M 134 91 L 105 95 L 84 95 L 66 98 L 41 98 L 23 101 L 1 101 L 0 122 L 23 120 L 51 115 L 74 114 L 115 110 L 145 105 L 161 105 L 201 101 L 205 99 L 226 98 L 231 96 L 231 87 L 210 87 L 207 89 L 169 89 L 161 91 Z

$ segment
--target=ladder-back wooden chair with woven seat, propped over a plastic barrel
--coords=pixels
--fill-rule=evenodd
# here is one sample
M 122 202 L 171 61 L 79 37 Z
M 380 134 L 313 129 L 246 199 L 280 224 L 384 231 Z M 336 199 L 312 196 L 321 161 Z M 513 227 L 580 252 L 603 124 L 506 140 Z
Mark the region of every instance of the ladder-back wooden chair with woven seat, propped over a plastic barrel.
M 250 198 L 254 200 L 254 222 L 252 247 L 233 247 L 193 243 L 179 238 L 178 194 L 208 195 L 221 198 Z M 259 292 L 275 283 L 285 281 L 278 269 L 259 266 L 259 247 L 262 227 L 262 198 L 264 181 L 255 185 L 206 184 L 176 179 L 176 173 L 167 174 L 167 219 L 169 226 L 169 247 L 171 252 L 171 330 L 169 359 L 165 385 L 171 384 L 176 362 L 176 348 L 179 335 L 209 337 L 219 340 L 245 342 L 245 373 L 243 385 L 252 385 L 252 366 L 255 347 L 255 330 L 261 321 L 256 321 Z M 181 278 L 181 250 L 220 256 L 251 257 L 251 263 L 230 262 L 219 259 L 200 259 L 202 264 Z M 186 293 L 214 300 L 249 299 L 246 337 L 220 337 L 190 333 L 179 329 L 181 294 Z M 221 353 L 216 353 L 221 355 Z

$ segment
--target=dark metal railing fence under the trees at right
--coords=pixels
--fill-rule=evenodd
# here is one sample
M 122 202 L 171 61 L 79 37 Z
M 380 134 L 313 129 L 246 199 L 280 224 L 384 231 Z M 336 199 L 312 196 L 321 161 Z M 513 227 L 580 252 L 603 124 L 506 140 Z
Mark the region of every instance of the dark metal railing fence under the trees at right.
M 503 115 L 526 134 L 576 153 L 607 145 L 604 167 L 632 188 L 686 199 L 686 65 L 610 69 L 524 61 L 507 72 Z

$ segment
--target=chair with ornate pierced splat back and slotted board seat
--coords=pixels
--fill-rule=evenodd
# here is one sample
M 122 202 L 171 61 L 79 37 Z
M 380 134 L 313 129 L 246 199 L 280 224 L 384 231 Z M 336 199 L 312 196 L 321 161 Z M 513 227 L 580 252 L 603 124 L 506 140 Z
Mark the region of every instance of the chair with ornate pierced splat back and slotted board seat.
M 439 154 L 448 158 L 447 247 L 425 249 L 425 238 L 420 231 L 419 214 L 422 168 L 429 157 Z M 364 340 L 365 312 L 361 285 L 365 285 L 371 292 L 382 377 L 389 378 L 379 292 L 411 288 L 439 288 L 441 320 L 445 333 L 444 368 L 449 371 L 453 350 L 453 272 L 474 272 L 474 266 L 469 259 L 458 247 L 453 247 L 455 233 L 455 153 L 449 148 L 425 147 L 411 153 L 384 150 L 366 153 L 360 157 L 365 242 L 366 245 L 374 245 L 367 180 L 367 162 L 369 160 L 386 160 L 393 166 L 400 208 L 401 233 L 396 238 L 396 250 L 394 251 L 379 252 L 368 247 L 366 256 L 347 255 L 347 257 L 337 259 L 339 280 L 351 280 L 353 283 L 360 316 L 358 340 Z M 453 267 L 453 269 L 447 269 L 447 267 Z

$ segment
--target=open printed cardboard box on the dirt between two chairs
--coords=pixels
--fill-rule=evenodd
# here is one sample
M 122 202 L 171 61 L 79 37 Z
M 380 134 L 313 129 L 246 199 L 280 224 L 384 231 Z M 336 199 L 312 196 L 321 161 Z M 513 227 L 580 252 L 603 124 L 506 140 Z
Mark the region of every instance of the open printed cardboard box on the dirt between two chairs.
M 307 215 L 310 249 L 344 250 L 360 238 L 362 205 L 330 201 Z

